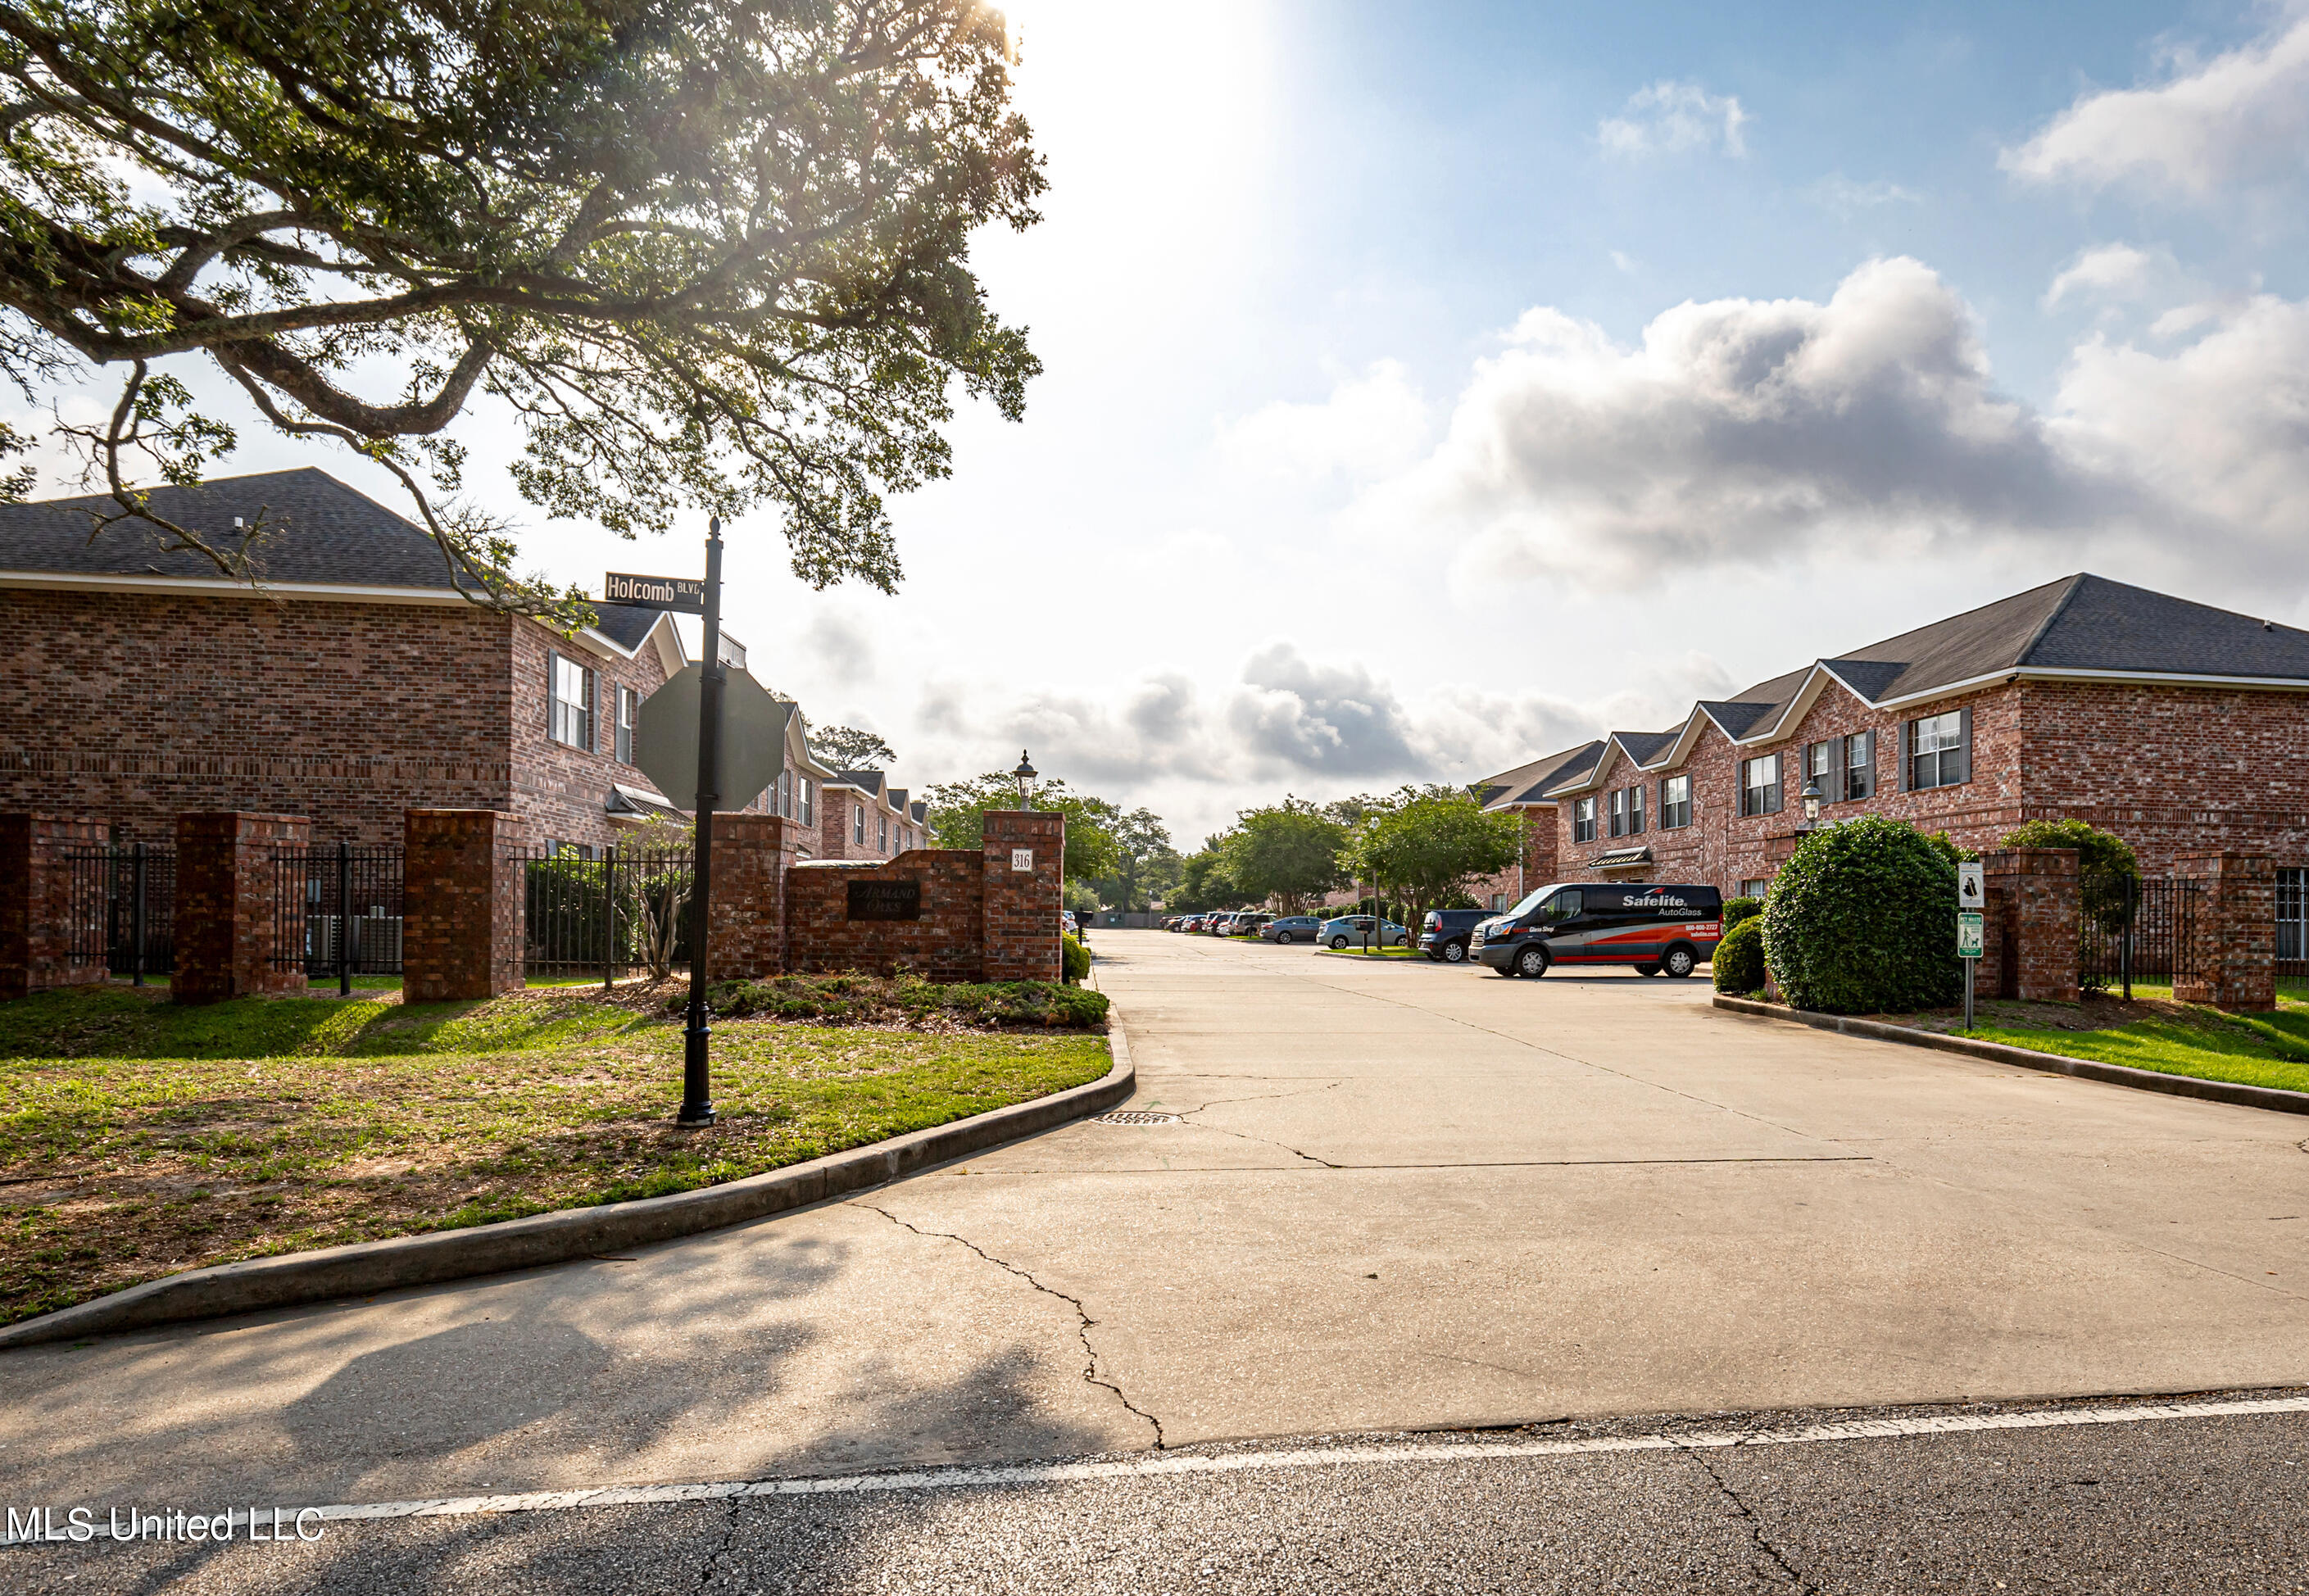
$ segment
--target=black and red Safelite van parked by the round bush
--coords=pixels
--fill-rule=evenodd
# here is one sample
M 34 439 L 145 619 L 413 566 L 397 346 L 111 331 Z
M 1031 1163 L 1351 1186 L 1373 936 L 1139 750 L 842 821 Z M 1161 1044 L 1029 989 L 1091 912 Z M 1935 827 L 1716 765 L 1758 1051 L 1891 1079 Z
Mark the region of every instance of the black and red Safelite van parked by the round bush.
M 1683 979 L 1723 938 L 1723 894 L 1697 885 L 1540 887 L 1475 926 L 1475 959 L 1501 975 L 1547 975 L 1559 963 L 1628 963 Z

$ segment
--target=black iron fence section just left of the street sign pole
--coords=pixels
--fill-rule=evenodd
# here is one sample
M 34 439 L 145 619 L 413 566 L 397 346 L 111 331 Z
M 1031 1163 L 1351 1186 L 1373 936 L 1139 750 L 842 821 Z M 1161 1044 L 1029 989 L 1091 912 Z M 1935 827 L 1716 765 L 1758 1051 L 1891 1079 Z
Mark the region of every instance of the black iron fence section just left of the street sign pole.
M 674 975 L 690 963 L 688 850 L 520 850 L 522 975 L 598 979 Z

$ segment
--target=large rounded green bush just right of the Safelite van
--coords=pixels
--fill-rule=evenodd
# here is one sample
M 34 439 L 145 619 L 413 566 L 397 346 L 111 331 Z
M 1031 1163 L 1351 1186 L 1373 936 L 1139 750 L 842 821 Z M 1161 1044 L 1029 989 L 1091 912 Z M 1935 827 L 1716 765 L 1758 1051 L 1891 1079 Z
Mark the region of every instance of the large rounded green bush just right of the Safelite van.
M 1764 959 L 1799 1009 L 1905 1014 L 1953 1002 L 1956 866 L 1898 820 L 1806 834 L 1764 898 Z

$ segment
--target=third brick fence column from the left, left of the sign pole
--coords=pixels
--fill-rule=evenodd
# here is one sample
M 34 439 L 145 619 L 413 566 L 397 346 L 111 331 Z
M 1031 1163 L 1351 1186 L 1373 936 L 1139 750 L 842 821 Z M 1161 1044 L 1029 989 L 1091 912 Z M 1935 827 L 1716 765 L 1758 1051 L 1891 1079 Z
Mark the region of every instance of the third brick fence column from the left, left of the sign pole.
M 494 808 L 402 815 L 402 995 L 471 1002 L 522 984 L 522 820 Z

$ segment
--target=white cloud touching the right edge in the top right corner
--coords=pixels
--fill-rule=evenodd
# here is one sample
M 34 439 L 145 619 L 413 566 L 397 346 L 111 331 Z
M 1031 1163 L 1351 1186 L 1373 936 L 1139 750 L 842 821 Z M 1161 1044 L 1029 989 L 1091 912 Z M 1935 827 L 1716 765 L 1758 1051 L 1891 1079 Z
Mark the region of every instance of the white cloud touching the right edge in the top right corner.
M 2004 171 L 2034 182 L 2138 182 L 2189 199 L 2300 176 L 2309 162 L 2309 16 L 2152 88 L 2087 92 Z

